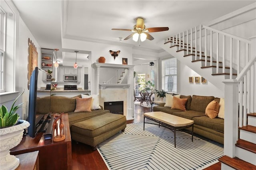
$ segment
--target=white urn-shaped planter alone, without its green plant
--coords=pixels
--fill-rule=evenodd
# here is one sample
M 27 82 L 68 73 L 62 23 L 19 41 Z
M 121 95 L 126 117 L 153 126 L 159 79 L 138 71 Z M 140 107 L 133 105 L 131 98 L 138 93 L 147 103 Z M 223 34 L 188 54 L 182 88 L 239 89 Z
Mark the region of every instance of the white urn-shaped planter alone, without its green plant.
M 10 149 L 17 146 L 22 140 L 24 129 L 29 127 L 29 123 L 24 120 L 19 120 L 22 123 L 12 127 L 0 129 L 0 167 L 1 170 L 14 170 L 20 160 L 13 155 L 10 155 Z

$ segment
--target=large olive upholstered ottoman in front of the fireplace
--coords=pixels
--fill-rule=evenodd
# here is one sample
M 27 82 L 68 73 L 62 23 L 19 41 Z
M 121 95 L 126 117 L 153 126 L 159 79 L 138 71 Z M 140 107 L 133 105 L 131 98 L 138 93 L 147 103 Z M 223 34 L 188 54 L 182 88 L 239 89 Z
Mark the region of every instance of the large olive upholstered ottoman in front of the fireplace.
M 73 124 L 71 126 L 71 138 L 96 149 L 99 143 L 125 128 L 126 117 L 124 115 L 105 113 Z

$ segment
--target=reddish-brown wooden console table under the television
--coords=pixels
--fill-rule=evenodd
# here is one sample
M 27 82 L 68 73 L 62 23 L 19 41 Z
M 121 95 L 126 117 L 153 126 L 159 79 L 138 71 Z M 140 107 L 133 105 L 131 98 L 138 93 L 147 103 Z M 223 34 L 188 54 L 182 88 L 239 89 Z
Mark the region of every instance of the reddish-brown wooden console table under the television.
M 68 114 L 65 113 L 62 119 L 65 140 L 60 142 L 53 142 L 52 139 L 44 140 L 44 133 L 42 132 L 38 133 L 34 138 L 23 136 L 20 144 L 10 150 L 10 154 L 17 155 L 38 150 L 40 169 L 71 170 L 72 151 Z

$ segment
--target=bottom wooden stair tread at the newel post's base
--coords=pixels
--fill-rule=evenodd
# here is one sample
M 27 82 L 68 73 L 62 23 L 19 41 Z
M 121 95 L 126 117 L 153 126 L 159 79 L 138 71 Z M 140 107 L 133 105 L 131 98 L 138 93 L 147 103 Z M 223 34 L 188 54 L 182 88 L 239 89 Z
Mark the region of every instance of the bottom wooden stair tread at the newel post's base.
M 256 170 L 256 166 L 237 157 L 222 156 L 219 161 L 236 170 Z

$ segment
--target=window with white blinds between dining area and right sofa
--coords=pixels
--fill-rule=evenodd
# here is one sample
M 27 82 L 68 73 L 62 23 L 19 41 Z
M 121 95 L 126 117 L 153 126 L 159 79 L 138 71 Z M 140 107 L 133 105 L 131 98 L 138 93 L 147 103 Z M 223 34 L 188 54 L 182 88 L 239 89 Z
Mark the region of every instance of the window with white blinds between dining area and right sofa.
M 177 59 L 174 57 L 162 60 L 162 89 L 177 93 Z

